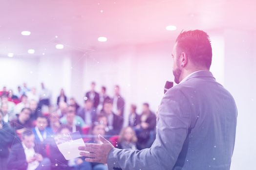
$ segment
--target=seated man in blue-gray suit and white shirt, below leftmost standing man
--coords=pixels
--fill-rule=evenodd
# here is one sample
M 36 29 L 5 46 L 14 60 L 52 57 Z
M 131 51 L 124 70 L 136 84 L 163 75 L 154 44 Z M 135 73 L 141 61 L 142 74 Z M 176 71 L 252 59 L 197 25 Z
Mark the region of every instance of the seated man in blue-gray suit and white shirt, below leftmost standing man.
M 95 121 L 97 116 L 96 109 L 90 99 L 85 100 L 84 107 L 78 110 L 78 116 L 85 120 L 86 126 L 90 126 Z

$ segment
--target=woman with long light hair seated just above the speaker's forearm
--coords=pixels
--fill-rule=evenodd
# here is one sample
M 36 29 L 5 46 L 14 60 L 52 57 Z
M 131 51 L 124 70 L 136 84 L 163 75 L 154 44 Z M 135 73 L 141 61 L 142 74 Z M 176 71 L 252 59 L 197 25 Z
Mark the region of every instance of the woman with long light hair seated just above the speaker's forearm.
M 137 140 L 138 139 L 134 130 L 129 126 L 125 127 L 122 129 L 119 135 L 117 147 L 119 149 L 137 150 L 137 146 L 136 146 Z

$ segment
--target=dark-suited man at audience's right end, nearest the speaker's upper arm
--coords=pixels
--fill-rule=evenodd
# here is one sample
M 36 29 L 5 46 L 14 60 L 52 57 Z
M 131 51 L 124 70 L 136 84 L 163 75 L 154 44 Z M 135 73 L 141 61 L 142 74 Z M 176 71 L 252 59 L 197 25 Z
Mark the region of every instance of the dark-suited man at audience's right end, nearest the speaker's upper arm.
M 149 104 L 143 104 L 143 111 L 140 116 L 140 124 L 136 126 L 136 135 L 138 137 L 138 149 L 149 148 L 155 137 L 156 116 L 149 109 Z

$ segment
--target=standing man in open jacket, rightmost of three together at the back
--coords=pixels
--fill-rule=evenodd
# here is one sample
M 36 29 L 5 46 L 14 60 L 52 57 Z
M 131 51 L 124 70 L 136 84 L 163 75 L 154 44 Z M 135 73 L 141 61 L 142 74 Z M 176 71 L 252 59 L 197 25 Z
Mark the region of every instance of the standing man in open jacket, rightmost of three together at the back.
M 115 85 L 114 92 L 115 94 L 113 97 L 113 112 L 118 116 L 124 117 L 125 100 L 120 95 L 119 85 Z

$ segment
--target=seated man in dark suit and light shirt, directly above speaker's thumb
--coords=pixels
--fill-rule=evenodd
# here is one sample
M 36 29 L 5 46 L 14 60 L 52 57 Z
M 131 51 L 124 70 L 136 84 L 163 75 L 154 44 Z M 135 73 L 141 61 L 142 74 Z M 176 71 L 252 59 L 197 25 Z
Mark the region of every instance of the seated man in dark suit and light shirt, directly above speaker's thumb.
M 101 114 L 104 114 L 107 117 L 107 127 L 109 131 L 107 135 L 118 135 L 123 126 L 124 119 L 120 116 L 117 116 L 112 111 L 112 101 L 107 99 L 103 105 L 103 111 Z

